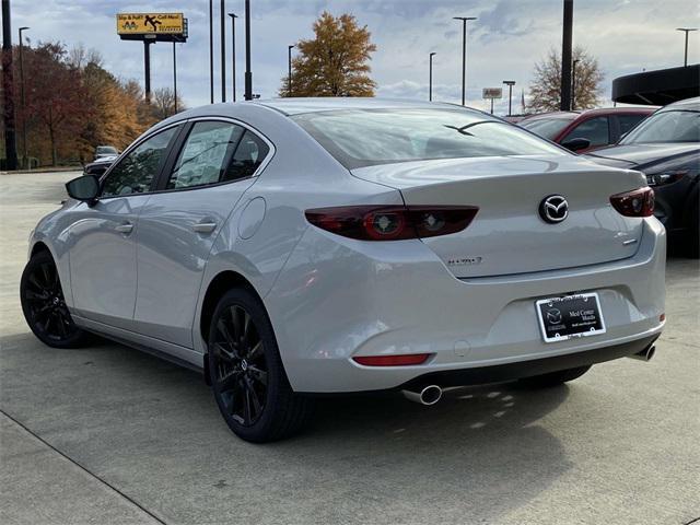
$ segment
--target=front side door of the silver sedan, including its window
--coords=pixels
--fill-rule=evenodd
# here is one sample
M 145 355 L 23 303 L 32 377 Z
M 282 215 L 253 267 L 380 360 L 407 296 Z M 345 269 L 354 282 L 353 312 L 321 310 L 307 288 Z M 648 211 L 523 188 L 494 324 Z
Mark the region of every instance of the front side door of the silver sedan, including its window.
M 102 180 L 97 202 L 75 206 L 68 230 L 73 304 L 78 315 L 132 328 L 136 233 L 177 126 L 142 140 Z

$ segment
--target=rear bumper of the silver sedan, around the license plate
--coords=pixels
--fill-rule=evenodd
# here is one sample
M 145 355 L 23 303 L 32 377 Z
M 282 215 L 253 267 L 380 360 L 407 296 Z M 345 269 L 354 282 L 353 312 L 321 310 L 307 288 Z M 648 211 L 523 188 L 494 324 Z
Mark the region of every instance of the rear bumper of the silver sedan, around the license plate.
M 378 390 L 433 376 L 508 381 L 635 353 L 663 328 L 664 272 L 665 232 L 653 218 L 627 259 L 472 279 L 456 279 L 420 241 L 362 243 L 310 228 L 264 300 L 296 392 Z M 597 292 L 607 332 L 545 343 L 535 301 L 583 291 Z M 431 357 L 411 366 L 352 360 L 406 353 Z

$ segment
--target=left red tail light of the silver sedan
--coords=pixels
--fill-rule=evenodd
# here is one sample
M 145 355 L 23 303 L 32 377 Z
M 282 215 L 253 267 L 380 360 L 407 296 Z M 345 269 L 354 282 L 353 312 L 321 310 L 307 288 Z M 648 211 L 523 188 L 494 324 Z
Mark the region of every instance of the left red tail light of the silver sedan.
M 313 225 L 361 241 L 400 241 L 460 232 L 479 208 L 474 206 L 346 206 L 306 210 Z

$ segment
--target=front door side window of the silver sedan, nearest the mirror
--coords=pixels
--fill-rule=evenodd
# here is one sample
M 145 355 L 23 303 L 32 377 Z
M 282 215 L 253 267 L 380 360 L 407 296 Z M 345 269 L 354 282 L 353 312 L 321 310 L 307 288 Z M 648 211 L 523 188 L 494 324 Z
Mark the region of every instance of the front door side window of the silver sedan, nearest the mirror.
M 153 177 L 158 175 L 164 161 L 167 145 L 179 128 L 161 131 L 141 142 L 121 159 L 102 185 L 102 197 L 142 194 L 151 189 Z

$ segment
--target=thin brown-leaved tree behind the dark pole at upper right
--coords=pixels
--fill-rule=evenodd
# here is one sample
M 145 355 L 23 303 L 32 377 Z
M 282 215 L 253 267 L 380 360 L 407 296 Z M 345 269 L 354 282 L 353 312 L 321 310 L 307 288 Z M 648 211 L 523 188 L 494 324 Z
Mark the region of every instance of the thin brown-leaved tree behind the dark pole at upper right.
M 598 61 L 582 47 L 573 50 L 576 61 L 575 85 L 573 98 L 576 109 L 588 109 L 599 104 L 602 93 L 600 83 L 604 74 Z M 535 65 L 535 79 L 529 85 L 530 100 L 528 109 L 535 113 L 556 112 L 561 103 L 561 56 L 556 49 L 550 49 L 547 57 Z

